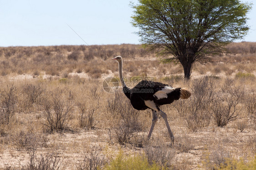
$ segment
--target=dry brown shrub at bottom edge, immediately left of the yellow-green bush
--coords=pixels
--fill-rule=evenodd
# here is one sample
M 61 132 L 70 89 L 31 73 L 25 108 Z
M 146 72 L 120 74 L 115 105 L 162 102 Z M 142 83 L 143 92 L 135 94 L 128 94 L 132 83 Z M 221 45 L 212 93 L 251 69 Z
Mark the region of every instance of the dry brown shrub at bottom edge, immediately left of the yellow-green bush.
M 105 157 L 98 150 L 92 149 L 89 155 L 84 155 L 82 161 L 77 164 L 77 170 L 99 170 L 105 165 Z

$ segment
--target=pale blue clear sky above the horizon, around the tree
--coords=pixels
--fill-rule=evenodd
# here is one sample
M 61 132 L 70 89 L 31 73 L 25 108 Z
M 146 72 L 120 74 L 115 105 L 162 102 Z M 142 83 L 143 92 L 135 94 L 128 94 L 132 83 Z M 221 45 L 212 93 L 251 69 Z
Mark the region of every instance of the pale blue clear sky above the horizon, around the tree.
M 0 46 L 139 44 L 137 0 L 0 0 Z M 255 0 L 254 0 L 255 1 Z M 245 41 L 256 42 L 256 2 Z M 77 32 L 81 38 L 68 26 Z M 241 40 L 238 40 L 238 42 Z

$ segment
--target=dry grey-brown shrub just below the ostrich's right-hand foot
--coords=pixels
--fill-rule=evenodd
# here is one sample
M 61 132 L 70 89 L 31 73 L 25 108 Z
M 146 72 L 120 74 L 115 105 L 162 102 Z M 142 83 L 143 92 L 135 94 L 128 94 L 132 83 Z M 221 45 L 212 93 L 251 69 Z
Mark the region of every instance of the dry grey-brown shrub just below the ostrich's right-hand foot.
M 144 148 L 145 155 L 148 159 L 149 165 L 157 164 L 161 167 L 171 167 L 172 161 L 176 155 L 176 151 L 173 148 L 160 144 L 156 148 L 152 145 L 147 145 Z

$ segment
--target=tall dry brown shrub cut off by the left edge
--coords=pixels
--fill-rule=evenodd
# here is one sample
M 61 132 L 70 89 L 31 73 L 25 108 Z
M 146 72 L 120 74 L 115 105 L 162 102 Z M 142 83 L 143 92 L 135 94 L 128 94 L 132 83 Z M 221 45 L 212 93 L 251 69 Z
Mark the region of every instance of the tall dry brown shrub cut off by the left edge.
M 0 125 L 9 124 L 11 117 L 17 110 L 17 88 L 15 85 L 8 84 L 0 92 Z

